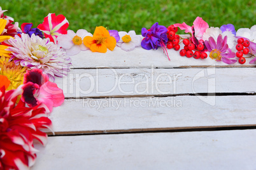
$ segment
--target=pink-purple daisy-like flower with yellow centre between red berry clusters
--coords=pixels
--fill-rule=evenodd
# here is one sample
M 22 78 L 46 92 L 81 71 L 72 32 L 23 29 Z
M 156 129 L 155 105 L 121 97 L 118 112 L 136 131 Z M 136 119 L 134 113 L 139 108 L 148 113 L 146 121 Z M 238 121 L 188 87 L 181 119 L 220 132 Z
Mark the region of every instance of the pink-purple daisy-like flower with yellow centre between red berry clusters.
M 227 36 L 222 39 L 222 35 L 220 34 L 217 38 L 217 42 L 213 37 L 209 38 L 209 41 L 204 41 L 206 48 L 210 51 L 210 58 L 216 60 L 217 62 L 224 62 L 227 64 L 236 63 L 237 60 L 229 60 L 230 58 L 234 58 L 236 53 L 232 52 L 227 44 Z

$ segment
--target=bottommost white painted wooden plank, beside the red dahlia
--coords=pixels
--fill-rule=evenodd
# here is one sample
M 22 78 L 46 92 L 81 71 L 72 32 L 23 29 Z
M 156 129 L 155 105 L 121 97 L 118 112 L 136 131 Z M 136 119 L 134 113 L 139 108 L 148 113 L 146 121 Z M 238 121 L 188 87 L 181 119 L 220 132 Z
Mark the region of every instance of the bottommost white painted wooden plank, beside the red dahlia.
M 32 170 L 255 169 L 256 130 L 50 137 Z

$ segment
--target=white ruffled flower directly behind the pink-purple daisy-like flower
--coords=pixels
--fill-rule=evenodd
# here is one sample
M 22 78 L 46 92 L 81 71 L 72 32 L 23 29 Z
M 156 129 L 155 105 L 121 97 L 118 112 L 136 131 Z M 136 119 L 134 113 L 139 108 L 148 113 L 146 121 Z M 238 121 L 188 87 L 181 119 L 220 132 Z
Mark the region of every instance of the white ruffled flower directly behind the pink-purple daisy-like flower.
M 220 34 L 222 35 L 222 37 L 227 36 L 227 44 L 229 45 L 229 48 L 232 49 L 235 44 L 236 38 L 234 37 L 234 34 L 232 34 L 232 32 L 229 30 L 222 32 L 222 30 L 220 30 L 220 28 L 218 28 L 218 27 L 210 27 L 210 28 L 206 29 L 206 32 L 204 32 L 203 41 L 208 40 L 210 37 L 213 37 L 213 39 L 215 41 L 217 41 L 218 36 Z

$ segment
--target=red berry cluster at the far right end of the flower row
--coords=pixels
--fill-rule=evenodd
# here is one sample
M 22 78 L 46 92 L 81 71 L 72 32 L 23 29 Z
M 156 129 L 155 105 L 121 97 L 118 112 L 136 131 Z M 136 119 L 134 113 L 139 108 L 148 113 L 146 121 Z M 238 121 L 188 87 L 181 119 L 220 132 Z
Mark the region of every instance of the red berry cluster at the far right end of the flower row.
M 236 44 L 236 50 L 238 50 L 238 52 L 236 52 L 236 56 L 239 58 L 238 62 L 241 64 L 246 62 L 245 57 L 243 57 L 243 55 L 248 55 L 248 46 L 250 46 L 250 41 L 245 41 L 245 39 L 243 38 L 238 39 L 238 44 Z

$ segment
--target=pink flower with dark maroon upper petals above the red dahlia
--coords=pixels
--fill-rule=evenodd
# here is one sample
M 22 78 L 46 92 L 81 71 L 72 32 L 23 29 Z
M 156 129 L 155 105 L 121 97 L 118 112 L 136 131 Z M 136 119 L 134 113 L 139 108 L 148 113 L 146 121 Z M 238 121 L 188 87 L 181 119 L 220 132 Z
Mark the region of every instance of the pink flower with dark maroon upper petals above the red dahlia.
M 56 83 L 48 80 L 48 75 L 43 74 L 40 69 L 27 70 L 24 74 L 21 100 L 29 107 L 43 103 L 46 106 L 45 109 L 52 112 L 53 107 L 58 107 L 64 102 L 64 95 Z

